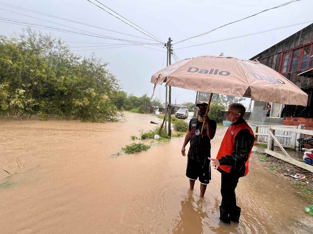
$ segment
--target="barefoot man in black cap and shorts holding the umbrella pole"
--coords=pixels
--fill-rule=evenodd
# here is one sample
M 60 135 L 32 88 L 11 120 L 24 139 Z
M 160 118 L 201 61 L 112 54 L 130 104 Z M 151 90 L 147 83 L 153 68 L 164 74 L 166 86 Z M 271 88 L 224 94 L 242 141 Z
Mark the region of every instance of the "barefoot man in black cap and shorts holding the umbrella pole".
M 189 178 L 189 189 L 193 190 L 195 181 L 199 178 L 200 198 L 204 196 L 207 185 L 211 180 L 210 157 L 211 143 L 216 131 L 216 121 L 209 119 L 205 115 L 208 104 L 203 102 L 196 105 L 198 107 L 198 118 L 193 118 L 189 122 L 188 132 L 184 144 L 182 145 L 182 156 L 186 156 L 185 147 L 190 141 L 187 154 L 186 176 Z M 204 125 L 201 135 L 202 125 Z

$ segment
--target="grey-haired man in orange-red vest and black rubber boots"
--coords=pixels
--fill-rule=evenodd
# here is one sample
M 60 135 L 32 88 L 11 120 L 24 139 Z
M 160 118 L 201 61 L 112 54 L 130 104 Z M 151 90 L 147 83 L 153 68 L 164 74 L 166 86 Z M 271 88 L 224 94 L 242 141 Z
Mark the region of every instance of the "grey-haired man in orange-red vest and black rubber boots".
M 248 174 L 249 157 L 254 143 L 254 133 L 243 119 L 246 109 L 240 103 L 229 105 L 227 118 L 232 124 L 228 127 L 218 154 L 211 160 L 221 175 L 222 202 L 220 220 L 230 224 L 239 223 L 241 208 L 236 205 L 235 189 L 240 177 Z

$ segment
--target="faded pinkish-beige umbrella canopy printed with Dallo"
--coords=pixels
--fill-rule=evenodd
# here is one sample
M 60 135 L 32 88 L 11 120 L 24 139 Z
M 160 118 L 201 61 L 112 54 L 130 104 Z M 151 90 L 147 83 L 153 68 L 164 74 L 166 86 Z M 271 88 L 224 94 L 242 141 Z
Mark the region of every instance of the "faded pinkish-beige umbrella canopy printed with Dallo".
M 151 83 L 163 82 L 184 89 L 288 105 L 306 106 L 308 100 L 305 92 L 275 70 L 231 56 L 208 55 L 178 61 L 152 75 Z

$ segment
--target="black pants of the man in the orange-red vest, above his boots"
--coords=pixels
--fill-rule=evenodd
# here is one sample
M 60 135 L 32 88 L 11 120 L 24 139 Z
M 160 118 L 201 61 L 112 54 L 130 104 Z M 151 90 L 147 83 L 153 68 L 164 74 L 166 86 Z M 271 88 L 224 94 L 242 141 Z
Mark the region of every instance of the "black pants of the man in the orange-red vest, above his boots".
M 221 207 L 227 212 L 232 212 L 236 207 L 236 193 L 235 189 L 238 184 L 239 178 L 230 173 L 222 173 L 221 180 Z

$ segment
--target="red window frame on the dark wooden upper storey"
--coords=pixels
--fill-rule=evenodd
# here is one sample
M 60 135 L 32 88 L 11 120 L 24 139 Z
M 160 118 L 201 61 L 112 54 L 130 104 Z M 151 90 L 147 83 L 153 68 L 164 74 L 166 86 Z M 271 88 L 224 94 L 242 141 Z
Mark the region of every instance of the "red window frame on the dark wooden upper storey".
M 307 49 L 308 47 L 310 47 L 310 53 L 309 53 L 309 59 L 308 59 L 308 63 L 306 65 L 305 68 L 302 68 L 300 69 L 301 67 L 301 63 L 302 63 L 302 59 L 303 59 L 303 52 L 304 52 L 304 49 Z M 296 47 L 292 50 L 288 50 L 288 51 L 284 51 L 282 52 L 282 56 L 281 56 L 281 61 L 280 61 L 280 68 L 279 68 L 279 72 L 280 74 L 287 74 L 287 73 L 290 73 L 290 72 L 295 72 L 295 71 L 290 71 L 291 69 L 291 64 L 292 64 L 292 59 L 294 58 L 294 51 L 297 51 L 300 49 L 300 55 L 299 55 L 299 62 L 298 62 L 298 67 L 297 67 L 297 70 L 295 71 L 302 71 L 302 70 L 305 70 L 305 69 L 308 69 L 308 68 L 313 68 L 313 42 L 309 43 L 309 44 L 306 44 L 304 46 L 299 46 L 299 47 Z M 289 62 L 289 66 L 288 66 L 288 69 L 286 72 L 282 72 L 282 69 L 283 69 L 283 63 L 284 63 L 284 56 L 286 53 L 291 53 L 290 54 L 290 62 Z M 310 61 L 312 61 L 312 64 L 310 66 Z

